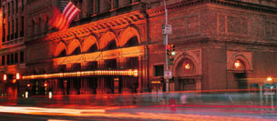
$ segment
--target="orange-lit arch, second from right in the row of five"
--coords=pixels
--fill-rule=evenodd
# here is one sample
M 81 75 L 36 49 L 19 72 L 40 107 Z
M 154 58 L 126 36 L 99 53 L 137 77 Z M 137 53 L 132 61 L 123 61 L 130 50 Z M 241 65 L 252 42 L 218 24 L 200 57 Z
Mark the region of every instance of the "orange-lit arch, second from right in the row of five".
M 104 49 L 112 40 L 115 40 L 118 46 L 117 35 L 114 32 L 108 31 L 107 33 L 101 36 L 99 40 L 99 48 Z

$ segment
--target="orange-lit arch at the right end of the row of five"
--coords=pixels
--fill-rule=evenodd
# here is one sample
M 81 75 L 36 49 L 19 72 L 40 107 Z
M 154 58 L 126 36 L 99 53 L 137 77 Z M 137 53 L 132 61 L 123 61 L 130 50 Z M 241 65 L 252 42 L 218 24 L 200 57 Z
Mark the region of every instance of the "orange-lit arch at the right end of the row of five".
M 138 29 L 136 29 L 135 27 L 133 26 L 130 26 L 128 28 L 126 28 L 122 34 L 120 34 L 119 36 L 119 46 L 123 46 L 125 45 L 128 40 L 134 36 L 137 36 L 138 37 L 138 41 L 139 41 L 139 44 L 141 42 L 141 37 L 140 37 L 140 34 L 139 34 L 139 31 Z

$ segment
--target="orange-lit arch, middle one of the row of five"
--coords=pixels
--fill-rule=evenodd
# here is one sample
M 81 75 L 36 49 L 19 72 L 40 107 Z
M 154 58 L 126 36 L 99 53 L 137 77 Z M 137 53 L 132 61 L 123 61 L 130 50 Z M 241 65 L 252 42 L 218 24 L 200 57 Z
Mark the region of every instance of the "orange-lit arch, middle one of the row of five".
M 99 44 L 97 42 L 97 38 L 94 35 L 89 35 L 83 42 L 82 50 L 83 52 L 87 52 L 87 50 L 92 46 L 92 45 L 97 45 L 97 48 L 99 48 Z

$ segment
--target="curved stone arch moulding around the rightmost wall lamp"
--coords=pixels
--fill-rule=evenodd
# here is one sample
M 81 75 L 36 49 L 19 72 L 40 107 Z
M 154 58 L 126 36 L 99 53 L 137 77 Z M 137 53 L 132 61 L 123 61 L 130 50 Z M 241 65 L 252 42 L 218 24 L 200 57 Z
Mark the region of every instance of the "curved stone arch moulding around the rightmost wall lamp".
M 249 62 L 249 60 L 244 55 L 241 55 L 239 53 L 231 56 L 231 59 L 230 59 L 229 63 L 227 64 L 227 68 L 229 68 L 229 69 L 232 68 L 232 70 L 234 70 L 233 65 L 236 60 L 240 60 L 243 63 L 245 70 L 251 70 L 251 63 Z

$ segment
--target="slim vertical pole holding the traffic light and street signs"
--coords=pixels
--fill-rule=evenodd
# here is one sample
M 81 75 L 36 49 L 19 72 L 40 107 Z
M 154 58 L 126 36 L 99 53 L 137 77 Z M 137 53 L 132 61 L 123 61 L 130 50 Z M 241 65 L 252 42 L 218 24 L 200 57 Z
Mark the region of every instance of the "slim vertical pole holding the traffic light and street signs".
M 165 6 L 165 14 L 166 14 L 166 25 L 168 26 L 168 9 L 167 9 L 167 5 L 166 5 L 166 0 L 163 0 L 164 6 Z M 168 34 L 164 35 L 164 45 L 166 46 L 166 71 L 169 71 L 169 56 L 167 53 L 168 50 Z M 166 92 L 169 92 L 169 78 L 165 79 L 165 83 L 166 83 Z

